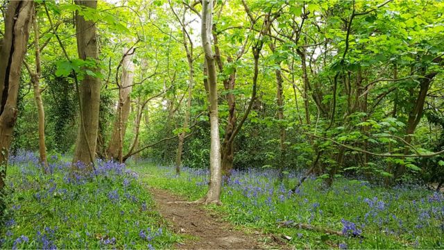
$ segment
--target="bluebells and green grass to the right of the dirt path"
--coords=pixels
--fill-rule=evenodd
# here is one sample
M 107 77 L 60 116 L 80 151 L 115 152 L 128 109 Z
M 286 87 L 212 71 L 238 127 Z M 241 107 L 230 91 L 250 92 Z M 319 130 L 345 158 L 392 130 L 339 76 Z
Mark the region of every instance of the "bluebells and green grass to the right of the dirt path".
M 190 200 L 207 190 L 206 169 L 146 164 L 136 169 L 149 185 L 169 189 Z M 366 181 L 338 178 L 327 188 L 310 178 L 292 192 L 300 173 L 283 182 L 272 169 L 233 172 L 223 185 L 223 206 L 214 207 L 234 223 L 272 233 L 301 249 L 443 249 L 444 196 L 419 185 L 391 189 Z M 327 235 L 285 225 L 310 224 L 341 231 Z

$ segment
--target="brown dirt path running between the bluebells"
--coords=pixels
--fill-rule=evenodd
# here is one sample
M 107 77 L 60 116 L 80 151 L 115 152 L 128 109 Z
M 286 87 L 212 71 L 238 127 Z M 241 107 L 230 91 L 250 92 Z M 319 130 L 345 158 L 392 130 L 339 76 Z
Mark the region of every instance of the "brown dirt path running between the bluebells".
M 173 231 L 192 238 L 176 249 L 263 249 L 255 238 L 259 235 L 246 235 L 237 231 L 221 217 L 209 213 L 198 204 L 169 203 L 183 201 L 181 197 L 166 190 L 150 188 L 160 214 L 171 224 Z

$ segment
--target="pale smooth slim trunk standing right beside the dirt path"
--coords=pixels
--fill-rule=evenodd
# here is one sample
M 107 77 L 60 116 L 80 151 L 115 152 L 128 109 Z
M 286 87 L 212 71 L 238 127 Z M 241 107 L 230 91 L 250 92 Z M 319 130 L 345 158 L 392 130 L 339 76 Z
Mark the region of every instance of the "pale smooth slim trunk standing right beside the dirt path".
M 211 48 L 213 1 L 202 1 L 202 46 L 208 71 L 210 101 L 210 187 L 203 198 L 204 203 L 221 203 L 221 142 L 219 141 L 219 114 L 217 108 L 217 73 Z

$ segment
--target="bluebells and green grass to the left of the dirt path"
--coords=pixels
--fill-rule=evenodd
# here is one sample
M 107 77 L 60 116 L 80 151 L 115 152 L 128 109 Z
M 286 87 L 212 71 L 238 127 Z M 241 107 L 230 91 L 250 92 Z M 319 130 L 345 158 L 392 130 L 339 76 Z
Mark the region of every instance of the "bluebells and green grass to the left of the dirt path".
M 62 159 L 52 156 L 42 174 L 34 153 L 10 157 L 0 249 L 163 249 L 178 240 L 125 165 L 99 161 L 85 176 Z

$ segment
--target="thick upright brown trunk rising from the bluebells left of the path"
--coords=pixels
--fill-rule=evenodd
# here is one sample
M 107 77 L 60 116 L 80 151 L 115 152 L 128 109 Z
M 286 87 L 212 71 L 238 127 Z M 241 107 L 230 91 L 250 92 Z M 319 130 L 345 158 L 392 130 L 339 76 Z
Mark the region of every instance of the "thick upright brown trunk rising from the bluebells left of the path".
M 96 8 L 97 1 L 77 0 L 76 4 Z M 96 24 L 87 21 L 76 12 L 77 51 L 80 59 L 99 60 Z M 99 71 L 99 68 L 94 69 Z M 74 150 L 73 169 L 78 170 L 78 163 L 91 170 L 96 153 L 97 131 L 99 128 L 100 79 L 86 74 L 80 83 L 80 123 Z

